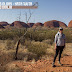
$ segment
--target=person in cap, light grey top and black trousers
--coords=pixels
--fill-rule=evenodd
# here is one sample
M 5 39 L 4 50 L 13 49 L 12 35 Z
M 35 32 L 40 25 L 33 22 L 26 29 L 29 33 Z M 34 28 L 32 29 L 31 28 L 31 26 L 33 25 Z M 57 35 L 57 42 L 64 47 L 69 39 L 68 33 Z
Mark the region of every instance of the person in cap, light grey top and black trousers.
M 58 63 L 62 66 L 60 59 L 61 59 L 61 54 L 63 52 L 63 49 L 65 48 L 65 34 L 63 34 L 63 28 L 60 27 L 59 28 L 59 32 L 55 35 L 55 56 L 54 56 L 54 60 L 52 63 L 52 66 L 54 67 L 55 65 L 55 60 L 56 57 L 59 54 L 59 59 L 58 59 Z

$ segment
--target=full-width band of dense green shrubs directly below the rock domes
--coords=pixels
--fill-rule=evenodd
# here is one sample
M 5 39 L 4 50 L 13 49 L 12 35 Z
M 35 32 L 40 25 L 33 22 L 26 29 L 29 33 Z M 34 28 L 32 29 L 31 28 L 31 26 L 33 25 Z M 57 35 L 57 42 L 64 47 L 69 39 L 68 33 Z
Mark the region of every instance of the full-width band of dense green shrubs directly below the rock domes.
M 15 37 L 20 38 L 24 35 L 26 29 L 13 29 L 13 30 L 3 30 L 0 31 L 0 40 L 11 39 L 13 40 Z M 58 28 L 30 28 L 27 30 L 27 34 L 25 35 L 25 39 L 35 40 L 35 41 L 43 41 L 43 40 L 52 40 L 54 41 L 55 34 L 58 32 Z M 64 29 L 64 34 L 66 35 L 66 42 L 72 42 L 72 29 Z M 22 38 L 23 39 L 23 38 Z M 23 44 L 24 40 L 21 40 Z

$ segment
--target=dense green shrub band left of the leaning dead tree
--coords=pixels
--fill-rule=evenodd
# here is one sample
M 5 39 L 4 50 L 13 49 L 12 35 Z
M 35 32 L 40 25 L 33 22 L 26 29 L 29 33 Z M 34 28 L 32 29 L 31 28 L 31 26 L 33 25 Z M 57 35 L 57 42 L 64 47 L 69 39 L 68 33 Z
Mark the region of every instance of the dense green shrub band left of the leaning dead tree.
M 12 39 L 14 37 L 21 37 L 24 34 L 24 29 L 3 30 L 0 31 L 0 40 Z

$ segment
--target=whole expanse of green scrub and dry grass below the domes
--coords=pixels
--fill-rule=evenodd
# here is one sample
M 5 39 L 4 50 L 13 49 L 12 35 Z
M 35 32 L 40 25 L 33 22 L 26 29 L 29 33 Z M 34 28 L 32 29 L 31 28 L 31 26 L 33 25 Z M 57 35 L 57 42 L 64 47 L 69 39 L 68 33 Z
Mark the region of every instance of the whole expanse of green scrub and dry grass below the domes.
M 25 37 L 22 37 L 25 31 L 26 29 L 0 31 L 1 71 L 5 70 L 5 65 L 15 60 L 16 46 L 19 39 L 21 43 L 17 55 L 18 60 L 25 62 L 30 60 L 37 61 L 38 59 L 54 56 L 54 37 L 58 32 L 58 28 L 29 28 Z M 64 34 L 66 35 L 67 45 L 63 55 L 66 55 L 66 52 L 71 50 L 72 29 L 65 28 Z M 16 67 L 14 70 L 18 71 L 20 69 Z

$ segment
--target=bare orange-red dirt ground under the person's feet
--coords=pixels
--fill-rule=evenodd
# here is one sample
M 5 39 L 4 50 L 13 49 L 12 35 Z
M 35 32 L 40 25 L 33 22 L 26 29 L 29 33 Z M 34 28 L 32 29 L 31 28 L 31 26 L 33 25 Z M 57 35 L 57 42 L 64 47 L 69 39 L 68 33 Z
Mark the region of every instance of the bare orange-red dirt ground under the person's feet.
M 72 72 L 72 56 L 64 56 L 61 58 L 63 66 L 60 66 L 56 60 L 56 67 L 52 67 L 52 60 L 53 58 L 49 60 L 38 60 L 34 64 L 16 61 L 13 64 L 16 64 L 24 72 Z

